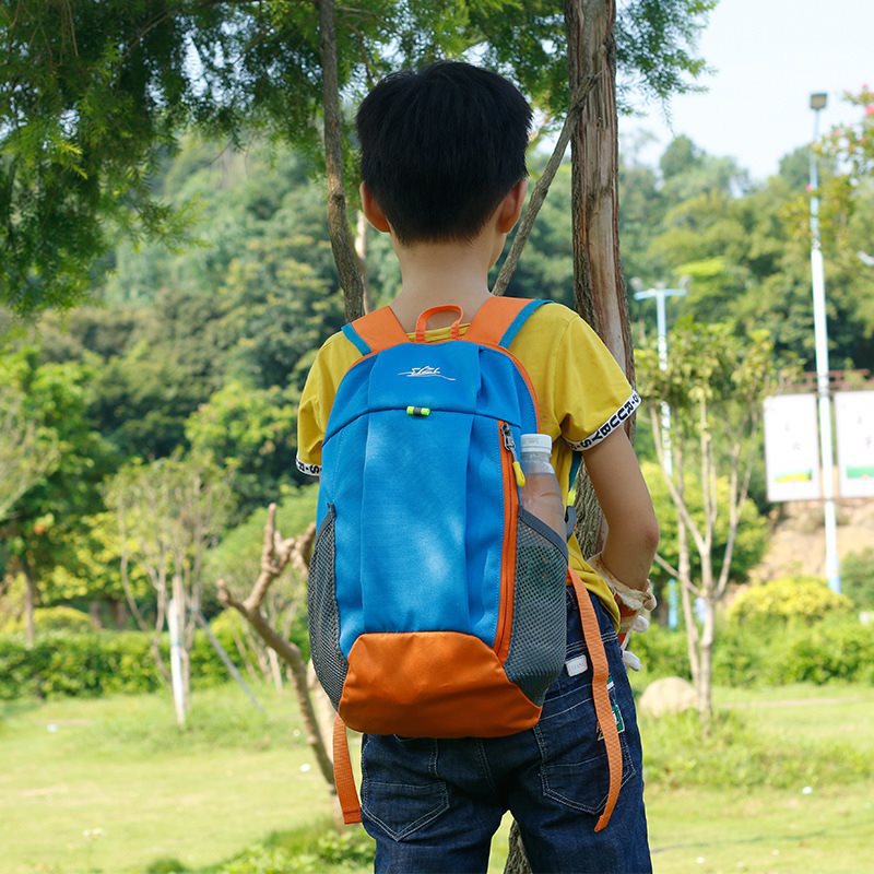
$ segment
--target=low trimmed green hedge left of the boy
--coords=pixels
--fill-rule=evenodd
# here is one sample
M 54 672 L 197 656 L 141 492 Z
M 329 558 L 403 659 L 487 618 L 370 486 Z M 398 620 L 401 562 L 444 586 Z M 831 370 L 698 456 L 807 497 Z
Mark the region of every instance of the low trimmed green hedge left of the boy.
M 229 639 L 222 646 L 234 658 Z M 169 663 L 169 642 L 161 649 Z M 191 676 L 201 686 L 227 680 L 227 669 L 206 636 L 198 633 L 191 651 Z M 0 699 L 109 693 L 143 693 L 160 688 L 163 680 L 140 631 L 50 631 L 27 649 L 23 636 L 0 636 Z

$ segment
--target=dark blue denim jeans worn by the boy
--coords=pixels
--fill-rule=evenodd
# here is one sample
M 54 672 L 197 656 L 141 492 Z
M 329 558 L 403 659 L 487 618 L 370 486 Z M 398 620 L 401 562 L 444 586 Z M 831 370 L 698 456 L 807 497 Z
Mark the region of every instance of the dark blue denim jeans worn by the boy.
M 579 658 L 587 654 L 579 611 L 568 589 L 569 664 L 547 692 L 533 729 L 488 739 L 364 736 L 362 822 L 376 840 L 376 872 L 485 872 L 506 811 L 519 824 L 535 874 L 652 871 L 631 689 L 610 615 L 592 601 L 623 748 L 623 787 L 610 825 L 594 831 L 609 773 L 591 669 Z

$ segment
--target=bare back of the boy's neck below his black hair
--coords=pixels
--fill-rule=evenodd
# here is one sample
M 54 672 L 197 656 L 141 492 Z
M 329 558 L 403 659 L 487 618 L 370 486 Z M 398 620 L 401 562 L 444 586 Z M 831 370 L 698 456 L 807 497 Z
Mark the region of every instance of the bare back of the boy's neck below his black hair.
M 471 243 L 418 243 L 398 246 L 401 292 L 391 308 L 406 331 L 414 331 L 418 315 L 441 304 L 460 306 L 469 322 L 488 299 L 488 271 L 494 263 L 494 240 L 477 237 Z M 442 328 L 454 320 L 438 314 L 428 328 Z

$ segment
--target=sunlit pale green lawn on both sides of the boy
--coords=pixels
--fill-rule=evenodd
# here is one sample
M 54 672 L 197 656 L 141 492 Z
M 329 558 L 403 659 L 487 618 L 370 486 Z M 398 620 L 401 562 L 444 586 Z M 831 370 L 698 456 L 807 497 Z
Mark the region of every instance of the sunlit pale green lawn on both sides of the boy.
M 196 693 L 186 732 L 161 695 L 2 705 L 0 870 L 133 874 L 162 858 L 200 869 L 270 832 L 323 823 L 328 795 L 293 698 L 258 694 L 265 714 L 234 686 Z M 767 743 L 824 755 L 849 743 L 874 755 L 874 689 L 720 689 L 718 701 Z M 643 734 L 646 743 L 646 724 Z M 647 804 L 657 874 L 850 874 L 874 848 L 870 782 L 651 782 Z M 495 841 L 495 873 L 507 828 Z

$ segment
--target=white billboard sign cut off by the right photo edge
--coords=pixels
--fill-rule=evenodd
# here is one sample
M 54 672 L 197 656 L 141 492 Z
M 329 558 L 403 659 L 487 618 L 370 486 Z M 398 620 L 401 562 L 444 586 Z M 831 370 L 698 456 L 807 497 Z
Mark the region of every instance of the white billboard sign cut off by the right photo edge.
M 874 497 L 874 391 L 835 394 L 838 432 L 838 494 Z

